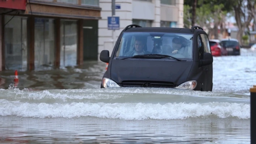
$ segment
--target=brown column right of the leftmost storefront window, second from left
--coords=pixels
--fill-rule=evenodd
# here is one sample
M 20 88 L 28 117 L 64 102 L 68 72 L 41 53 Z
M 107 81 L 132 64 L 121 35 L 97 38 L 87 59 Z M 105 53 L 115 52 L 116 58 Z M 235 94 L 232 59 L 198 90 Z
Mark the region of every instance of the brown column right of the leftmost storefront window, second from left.
M 35 17 L 27 19 L 27 70 L 35 69 Z

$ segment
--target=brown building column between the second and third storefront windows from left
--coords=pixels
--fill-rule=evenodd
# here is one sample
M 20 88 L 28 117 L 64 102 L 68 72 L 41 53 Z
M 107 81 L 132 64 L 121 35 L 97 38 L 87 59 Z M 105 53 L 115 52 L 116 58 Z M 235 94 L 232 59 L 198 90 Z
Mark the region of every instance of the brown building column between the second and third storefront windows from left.
M 60 18 L 55 19 L 55 59 L 54 66 L 58 68 L 60 66 Z

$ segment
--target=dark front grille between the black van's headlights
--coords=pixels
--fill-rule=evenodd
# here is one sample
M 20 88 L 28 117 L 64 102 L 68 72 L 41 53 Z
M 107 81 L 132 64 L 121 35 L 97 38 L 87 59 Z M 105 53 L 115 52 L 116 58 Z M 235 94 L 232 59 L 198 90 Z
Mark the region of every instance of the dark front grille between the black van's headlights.
M 123 87 L 176 87 L 172 82 L 126 80 L 122 82 Z

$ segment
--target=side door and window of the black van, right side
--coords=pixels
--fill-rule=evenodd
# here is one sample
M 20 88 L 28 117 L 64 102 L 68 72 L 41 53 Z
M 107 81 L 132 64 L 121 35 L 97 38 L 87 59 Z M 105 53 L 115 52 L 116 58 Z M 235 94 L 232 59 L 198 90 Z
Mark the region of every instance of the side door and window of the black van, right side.
M 208 36 L 206 34 L 200 34 L 200 42 L 202 44 L 202 47 L 200 49 L 200 59 L 203 58 L 203 55 L 205 52 L 207 53 L 212 53 L 211 48 L 210 48 L 210 43 Z M 201 66 L 201 70 L 203 71 L 203 83 L 202 83 L 202 88 L 203 91 L 212 91 L 213 87 L 213 64 L 206 65 L 206 66 Z

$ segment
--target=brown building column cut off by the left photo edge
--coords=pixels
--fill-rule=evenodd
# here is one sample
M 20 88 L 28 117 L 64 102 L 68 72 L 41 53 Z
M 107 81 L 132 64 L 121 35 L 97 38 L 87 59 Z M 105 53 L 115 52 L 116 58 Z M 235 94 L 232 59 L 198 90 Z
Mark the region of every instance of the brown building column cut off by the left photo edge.
M 5 70 L 4 14 L 0 15 L 0 71 Z

